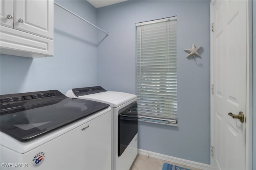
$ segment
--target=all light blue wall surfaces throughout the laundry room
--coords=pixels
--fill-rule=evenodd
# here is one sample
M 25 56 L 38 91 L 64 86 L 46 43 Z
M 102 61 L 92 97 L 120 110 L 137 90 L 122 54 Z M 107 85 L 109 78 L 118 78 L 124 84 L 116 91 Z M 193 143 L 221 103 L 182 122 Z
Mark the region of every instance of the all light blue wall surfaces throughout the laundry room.
M 209 1 L 128 1 L 98 10 L 87 1 L 56 2 L 94 24 L 98 21 L 110 35 L 103 39 L 104 33 L 54 6 L 54 57 L 30 59 L 1 54 L 0 93 L 58 89 L 65 94 L 71 88 L 98 84 L 107 90 L 135 94 L 135 23 L 177 15 L 179 127 L 140 122 L 139 148 L 210 164 Z M 186 59 L 183 51 L 192 43 L 203 47 L 197 64 Z M 253 47 L 256 160 L 256 22 Z

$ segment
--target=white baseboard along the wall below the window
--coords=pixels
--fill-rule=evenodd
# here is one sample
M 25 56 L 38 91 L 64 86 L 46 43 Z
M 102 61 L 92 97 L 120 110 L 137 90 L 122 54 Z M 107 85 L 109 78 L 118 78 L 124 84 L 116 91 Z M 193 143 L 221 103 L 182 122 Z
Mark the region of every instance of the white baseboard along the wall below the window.
M 176 158 L 176 157 L 173 157 L 173 156 L 168 156 L 168 155 L 165 155 L 165 154 L 151 152 L 151 151 L 148 151 L 148 150 L 138 149 L 138 154 L 151 156 L 151 157 L 154 157 L 154 158 L 166 160 L 166 161 L 173 162 L 173 163 L 176 163 L 176 164 L 182 164 L 182 165 L 190 166 L 190 167 L 193 167 L 193 168 L 198 168 L 198 169 L 202 169 L 202 170 L 210 170 L 210 165 L 208 165 L 208 164 L 202 164 L 202 163 L 194 162 L 194 161 L 191 161 L 191 160 Z

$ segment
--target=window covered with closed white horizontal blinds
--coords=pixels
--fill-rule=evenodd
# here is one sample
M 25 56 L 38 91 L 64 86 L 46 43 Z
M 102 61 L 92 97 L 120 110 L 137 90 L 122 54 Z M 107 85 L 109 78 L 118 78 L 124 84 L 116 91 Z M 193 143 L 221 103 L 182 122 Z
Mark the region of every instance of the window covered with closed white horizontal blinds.
M 177 17 L 136 23 L 136 91 L 141 121 L 177 123 Z

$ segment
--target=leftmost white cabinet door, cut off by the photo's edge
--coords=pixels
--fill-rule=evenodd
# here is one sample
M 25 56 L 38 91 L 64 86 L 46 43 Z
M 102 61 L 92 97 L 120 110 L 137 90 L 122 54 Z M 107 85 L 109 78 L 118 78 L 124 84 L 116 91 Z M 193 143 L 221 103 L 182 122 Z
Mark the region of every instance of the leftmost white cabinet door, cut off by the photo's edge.
M 0 24 L 13 28 L 13 0 L 0 1 Z

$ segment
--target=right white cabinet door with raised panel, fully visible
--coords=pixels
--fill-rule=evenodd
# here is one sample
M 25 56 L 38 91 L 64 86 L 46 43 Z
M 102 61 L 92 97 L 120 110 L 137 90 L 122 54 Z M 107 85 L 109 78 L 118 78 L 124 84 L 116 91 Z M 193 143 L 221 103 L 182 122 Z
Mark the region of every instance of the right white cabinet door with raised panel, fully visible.
M 14 1 L 14 29 L 53 39 L 53 0 Z

